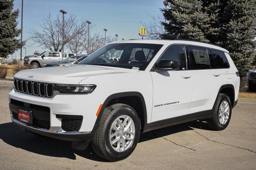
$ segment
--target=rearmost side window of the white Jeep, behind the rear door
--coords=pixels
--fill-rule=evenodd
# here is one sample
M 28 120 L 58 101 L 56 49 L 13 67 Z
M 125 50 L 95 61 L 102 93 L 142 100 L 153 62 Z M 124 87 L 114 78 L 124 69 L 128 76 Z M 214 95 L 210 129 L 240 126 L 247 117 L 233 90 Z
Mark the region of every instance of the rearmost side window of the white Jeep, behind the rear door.
M 229 68 L 228 59 L 224 52 L 211 49 L 212 53 L 209 55 L 211 61 L 211 68 Z

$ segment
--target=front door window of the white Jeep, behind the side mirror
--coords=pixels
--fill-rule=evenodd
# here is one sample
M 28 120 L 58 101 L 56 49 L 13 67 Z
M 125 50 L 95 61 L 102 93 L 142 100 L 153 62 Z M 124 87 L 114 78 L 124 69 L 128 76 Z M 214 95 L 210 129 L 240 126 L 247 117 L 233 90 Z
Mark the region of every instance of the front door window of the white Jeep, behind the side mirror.
M 186 51 L 183 45 L 174 45 L 169 47 L 158 61 L 162 59 L 177 61 L 178 62 L 177 70 L 187 69 Z

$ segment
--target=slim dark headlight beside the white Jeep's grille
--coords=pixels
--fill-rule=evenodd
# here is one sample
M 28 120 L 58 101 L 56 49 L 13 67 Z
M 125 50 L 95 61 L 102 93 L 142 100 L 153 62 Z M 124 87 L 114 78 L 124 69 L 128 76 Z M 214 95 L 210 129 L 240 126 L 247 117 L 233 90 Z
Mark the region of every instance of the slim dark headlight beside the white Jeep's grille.
M 56 84 L 60 93 L 82 93 L 89 94 L 96 88 L 94 84 L 73 85 L 73 84 Z

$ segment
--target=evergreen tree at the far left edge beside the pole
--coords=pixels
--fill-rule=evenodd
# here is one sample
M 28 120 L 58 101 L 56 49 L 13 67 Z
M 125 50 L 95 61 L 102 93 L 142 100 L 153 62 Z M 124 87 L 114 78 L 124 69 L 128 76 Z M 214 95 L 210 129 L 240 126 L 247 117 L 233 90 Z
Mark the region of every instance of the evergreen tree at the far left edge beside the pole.
M 16 21 L 19 10 L 13 11 L 14 0 L 0 0 L 0 57 L 7 58 L 21 47 L 20 29 Z M 24 44 L 24 42 L 23 42 Z

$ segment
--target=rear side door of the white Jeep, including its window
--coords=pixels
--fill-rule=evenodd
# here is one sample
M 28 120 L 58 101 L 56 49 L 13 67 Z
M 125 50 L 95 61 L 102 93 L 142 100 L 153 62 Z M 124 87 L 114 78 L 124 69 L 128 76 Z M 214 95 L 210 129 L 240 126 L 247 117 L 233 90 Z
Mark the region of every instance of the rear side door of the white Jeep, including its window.
M 219 70 L 211 69 L 209 49 L 189 45 L 187 47 L 191 63 L 190 72 L 193 77 L 193 94 L 189 113 L 205 114 L 204 111 L 212 109 L 222 76 Z

